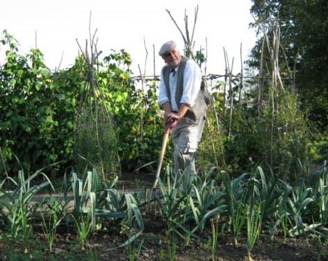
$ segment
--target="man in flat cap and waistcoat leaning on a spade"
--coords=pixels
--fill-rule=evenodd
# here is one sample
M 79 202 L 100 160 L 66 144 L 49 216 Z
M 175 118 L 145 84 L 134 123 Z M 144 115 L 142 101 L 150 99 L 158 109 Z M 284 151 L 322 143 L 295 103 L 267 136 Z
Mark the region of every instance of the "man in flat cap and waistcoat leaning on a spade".
M 173 41 L 165 42 L 158 54 L 166 64 L 161 72 L 158 102 L 167 123 L 178 121 L 172 130 L 174 173 L 186 171 L 192 181 L 207 109 L 200 89 L 202 72 L 194 60 L 181 56 Z

